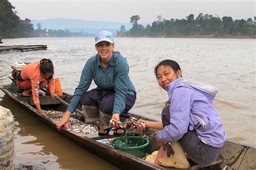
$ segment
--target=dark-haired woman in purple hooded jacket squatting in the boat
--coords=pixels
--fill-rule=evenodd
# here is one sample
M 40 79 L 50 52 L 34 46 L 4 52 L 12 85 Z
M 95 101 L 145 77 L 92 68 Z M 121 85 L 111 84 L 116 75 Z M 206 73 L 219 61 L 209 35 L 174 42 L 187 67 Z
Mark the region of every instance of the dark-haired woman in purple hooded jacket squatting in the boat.
M 156 137 L 160 146 L 171 145 L 174 154 L 160 158 L 165 167 L 188 168 L 186 155 L 200 165 L 211 164 L 219 157 L 226 140 L 223 124 L 212 101 L 218 89 L 203 83 L 186 82 L 176 61 L 161 61 L 155 68 L 158 83 L 169 95 L 161 122 L 145 123 L 160 130 Z

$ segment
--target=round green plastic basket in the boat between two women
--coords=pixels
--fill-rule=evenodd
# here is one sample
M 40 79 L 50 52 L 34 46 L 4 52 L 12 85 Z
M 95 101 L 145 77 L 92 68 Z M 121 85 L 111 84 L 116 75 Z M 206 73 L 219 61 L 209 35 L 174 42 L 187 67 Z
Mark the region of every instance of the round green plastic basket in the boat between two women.
M 138 136 L 120 137 L 112 140 L 114 148 L 120 151 L 132 154 L 138 158 L 143 158 L 146 155 L 149 139 Z

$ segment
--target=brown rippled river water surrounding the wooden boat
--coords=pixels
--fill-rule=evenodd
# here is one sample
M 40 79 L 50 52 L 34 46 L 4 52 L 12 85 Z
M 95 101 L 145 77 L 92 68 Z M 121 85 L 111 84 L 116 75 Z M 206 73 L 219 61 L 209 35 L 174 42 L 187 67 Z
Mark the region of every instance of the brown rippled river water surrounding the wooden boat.
M 164 59 L 176 60 L 185 80 L 209 83 L 219 89 L 213 104 L 224 123 L 227 138 L 256 146 L 255 40 L 116 38 L 115 50 L 130 66 L 130 79 L 137 90 L 131 112 L 160 120 L 168 99 L 153 74 Z M 0 54 L 0 84 L 10 83 L 14 61 L 49 58 L 55 66 L 63 91 L 72 94 L 90 56 L 96 54 L 94 38 L 4 39 L 3 45 L 48 45 L 48 50 Z M 92 83 L 91 88 L 95 84 Z M 0 105 L 15 115 L 15 164 L 47 169 L 117 169 L 72 141 L 48 128 L 0 91 Z

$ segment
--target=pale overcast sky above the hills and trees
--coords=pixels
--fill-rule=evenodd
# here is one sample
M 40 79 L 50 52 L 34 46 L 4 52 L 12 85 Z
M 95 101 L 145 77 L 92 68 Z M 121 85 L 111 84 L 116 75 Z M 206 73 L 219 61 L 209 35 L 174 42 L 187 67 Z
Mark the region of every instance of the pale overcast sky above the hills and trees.
M 71 18 L 112 22 L 130 22 L 139 15 L 139 23 L 152 23 L 161 15 L 165 19 L 182 19 L 200 12 L 220 18 L 248 19 L 255 16 L 255 1 L 60 1 L 60 0 L 9 0 L 21 19 Z

